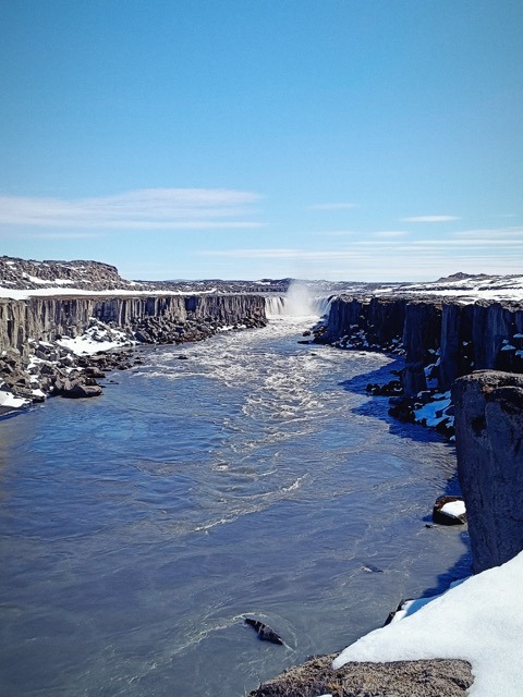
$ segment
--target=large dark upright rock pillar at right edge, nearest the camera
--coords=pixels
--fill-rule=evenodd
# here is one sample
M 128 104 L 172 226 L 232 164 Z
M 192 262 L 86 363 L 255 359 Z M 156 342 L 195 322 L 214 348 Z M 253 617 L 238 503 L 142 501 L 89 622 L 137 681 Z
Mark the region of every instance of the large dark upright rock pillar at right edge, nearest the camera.
M 477 371 L 457 380 L 452 396 L 477 573 L 523 550 L 523 375 Z

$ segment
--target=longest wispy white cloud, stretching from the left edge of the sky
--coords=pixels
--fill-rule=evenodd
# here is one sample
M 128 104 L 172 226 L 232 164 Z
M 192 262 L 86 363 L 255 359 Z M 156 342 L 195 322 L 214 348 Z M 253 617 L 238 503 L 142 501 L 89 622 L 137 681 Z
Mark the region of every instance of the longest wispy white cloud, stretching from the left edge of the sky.
M 251 216 L 257 194 L 224 188 L 145 188 L 115 196 L 0 196 L 0 224 L 39 228 L 208 230 L 259 228 Z M 239 219 L 240 218 L 240 219 Z

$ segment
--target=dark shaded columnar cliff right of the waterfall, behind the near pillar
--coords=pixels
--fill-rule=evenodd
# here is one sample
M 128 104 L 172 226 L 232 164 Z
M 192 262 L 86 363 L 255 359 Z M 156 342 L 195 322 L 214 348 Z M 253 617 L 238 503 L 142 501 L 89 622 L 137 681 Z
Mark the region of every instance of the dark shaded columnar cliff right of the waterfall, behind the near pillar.
M 386 351 L 401 341 L 405 394 L 426 390 L 427 375 L 447 391 L 474 369 L 523 371 L 523 305 L 341 295 L 332 301 L 318 341 Z

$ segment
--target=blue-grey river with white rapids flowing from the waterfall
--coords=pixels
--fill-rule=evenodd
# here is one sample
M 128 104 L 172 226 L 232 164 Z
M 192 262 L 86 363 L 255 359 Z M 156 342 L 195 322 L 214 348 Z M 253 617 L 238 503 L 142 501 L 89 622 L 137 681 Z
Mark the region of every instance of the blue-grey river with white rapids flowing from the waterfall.
M 389 359 L 306 326 L 144 350 L 0 423 L 0 694 L 242 697 L 466 573 L 425 526 L 452 448 L 365 395 Z

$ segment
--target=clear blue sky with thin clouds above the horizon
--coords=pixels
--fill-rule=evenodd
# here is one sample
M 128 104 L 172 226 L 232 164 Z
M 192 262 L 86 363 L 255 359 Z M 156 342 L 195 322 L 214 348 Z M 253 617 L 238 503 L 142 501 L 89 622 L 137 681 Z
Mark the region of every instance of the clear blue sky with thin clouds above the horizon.
M 523 272 L 521 0 L 3 0 L 0 254 Z

